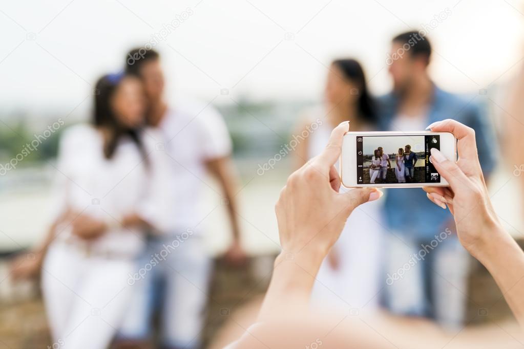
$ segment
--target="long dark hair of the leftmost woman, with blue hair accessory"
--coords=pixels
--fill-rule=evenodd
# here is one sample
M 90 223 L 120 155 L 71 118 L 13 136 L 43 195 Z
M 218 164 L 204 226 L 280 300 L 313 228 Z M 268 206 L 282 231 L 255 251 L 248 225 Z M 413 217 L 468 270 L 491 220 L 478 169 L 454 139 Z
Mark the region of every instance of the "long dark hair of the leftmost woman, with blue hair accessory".
M 106 159 L 111 159 L 115 154 L 118 143 L 122 139 L 128 138 L 136 144 L 147 166 L 147 153 L 140 138 L 140 129 L 123 125 L 115 115 L 112 105 L 113 97 L 124 77 L 125 75 L 123 74 L 107 74 L 96 82 L 94 94 L 95 108 L 92 122 L 96 127 L 105 128 L 109 131 L 110 137 L 104 140 L 104 155 Z

